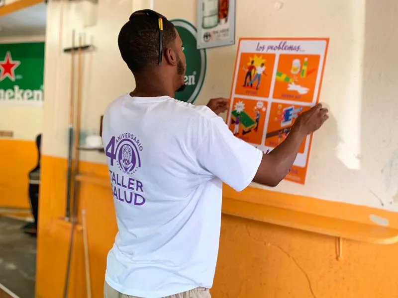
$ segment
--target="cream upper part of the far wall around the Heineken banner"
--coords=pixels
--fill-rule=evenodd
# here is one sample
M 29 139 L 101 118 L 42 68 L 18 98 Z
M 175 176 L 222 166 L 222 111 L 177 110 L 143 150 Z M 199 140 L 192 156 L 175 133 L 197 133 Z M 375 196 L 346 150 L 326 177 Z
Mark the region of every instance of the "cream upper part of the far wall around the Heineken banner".
M 40 42 L 45 36 L 0 37 L 2 43 Z M 0 57 L 2 60 L 3 57 Z M 12 131 L 13 139 L 33 141 L 42 131 L 43 107 L 0 106 L 0 130 Z

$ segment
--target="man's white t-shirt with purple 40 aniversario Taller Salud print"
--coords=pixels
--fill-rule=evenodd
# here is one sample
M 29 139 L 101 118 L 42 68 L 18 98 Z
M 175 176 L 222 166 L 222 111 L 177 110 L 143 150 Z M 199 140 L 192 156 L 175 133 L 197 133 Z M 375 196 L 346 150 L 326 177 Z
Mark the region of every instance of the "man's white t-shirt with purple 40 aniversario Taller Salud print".
M 222 181 L 246 188 L 262 152 L 209 108 L 168 96 L 117 98 L 102 139 L 118 226 L 106 282 L 143 298 L 211 288 Z

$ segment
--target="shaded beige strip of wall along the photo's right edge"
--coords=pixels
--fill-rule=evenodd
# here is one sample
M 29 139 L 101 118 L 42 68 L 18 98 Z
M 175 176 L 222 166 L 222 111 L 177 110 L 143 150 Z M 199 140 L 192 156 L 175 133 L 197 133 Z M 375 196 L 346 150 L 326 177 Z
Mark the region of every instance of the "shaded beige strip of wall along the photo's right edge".
M 366 0 L 362 156 L 369 184 L 385 204 L 398 204 L 398 101 L 396 1 Z M 377 192 L 375 189 L 374 192 Z

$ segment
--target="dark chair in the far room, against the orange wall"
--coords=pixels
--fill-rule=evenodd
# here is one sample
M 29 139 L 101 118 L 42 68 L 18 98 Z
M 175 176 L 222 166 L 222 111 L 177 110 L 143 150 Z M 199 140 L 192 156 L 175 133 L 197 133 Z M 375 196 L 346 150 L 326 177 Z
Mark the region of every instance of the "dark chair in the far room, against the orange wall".
M 40 157 L 41 134 L 36 137 L 37 165 L 29 172 L 29 200 L 34 222 L 23 227 L 24 231 L 36 235 L 39 213 Z

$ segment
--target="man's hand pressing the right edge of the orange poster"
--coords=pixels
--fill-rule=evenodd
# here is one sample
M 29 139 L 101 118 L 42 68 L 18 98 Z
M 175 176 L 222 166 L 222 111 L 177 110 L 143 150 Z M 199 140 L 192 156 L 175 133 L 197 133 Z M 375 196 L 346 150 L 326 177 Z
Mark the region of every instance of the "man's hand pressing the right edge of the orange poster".
M 327 119 L 329 119 L 329 116 L 327 115 L 328 112 L 329 111 L 327 109 L 322 108 L 322 104 L 317 104 L 309 111 L 298 116 L 292 127 L 292 132 L 297 133 L 302 138 L 312 134 L 317 131 Z

